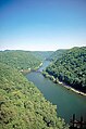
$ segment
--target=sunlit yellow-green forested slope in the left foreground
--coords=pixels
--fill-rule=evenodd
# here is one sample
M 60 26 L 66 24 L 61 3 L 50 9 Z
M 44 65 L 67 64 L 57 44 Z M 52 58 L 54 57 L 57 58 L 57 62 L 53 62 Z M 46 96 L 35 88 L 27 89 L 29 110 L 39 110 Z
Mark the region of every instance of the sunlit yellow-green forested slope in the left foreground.
M 56 106 L 16 69 L 0 63 L 0 129 L 66 129 Z

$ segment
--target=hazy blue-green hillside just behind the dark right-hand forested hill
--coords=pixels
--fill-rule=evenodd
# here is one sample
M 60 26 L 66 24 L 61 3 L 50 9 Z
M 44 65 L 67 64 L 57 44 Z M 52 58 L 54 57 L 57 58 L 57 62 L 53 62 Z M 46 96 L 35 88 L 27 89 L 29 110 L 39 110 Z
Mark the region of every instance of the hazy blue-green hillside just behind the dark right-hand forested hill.
M 65 49 L 59 49 L 56 52 L 53 52 L 49 57 L 47 57 L 47 60 L 49 61 L 57 61 L 58 59 L 60 59 L 67 50 Z

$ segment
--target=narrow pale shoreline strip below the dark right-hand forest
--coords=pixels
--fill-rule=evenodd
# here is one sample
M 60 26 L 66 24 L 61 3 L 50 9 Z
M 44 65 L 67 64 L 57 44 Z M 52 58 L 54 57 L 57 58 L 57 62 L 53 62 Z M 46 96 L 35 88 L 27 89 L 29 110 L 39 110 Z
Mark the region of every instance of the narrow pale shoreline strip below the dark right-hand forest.
M 58 78 L 54 78 L 53 76 L 49 75 L 47 72 L 42 72 L 42 75 L 46 77 L 46 78 L 49 78 L 50 80 L 52 80 L 54 83 L 59 83 L 61 86 L 63 86 L 64 88 L 66 88 L 67 90 L 71 90 L 77 94 L 81 94 L 81 95 L 85 95 L 86 96 L 86 93 L 82 92 L 82 91 L 78 91 L 74 88 L 72 88 L 71 86 L 67 86 L 66 83 L 60 81 Z

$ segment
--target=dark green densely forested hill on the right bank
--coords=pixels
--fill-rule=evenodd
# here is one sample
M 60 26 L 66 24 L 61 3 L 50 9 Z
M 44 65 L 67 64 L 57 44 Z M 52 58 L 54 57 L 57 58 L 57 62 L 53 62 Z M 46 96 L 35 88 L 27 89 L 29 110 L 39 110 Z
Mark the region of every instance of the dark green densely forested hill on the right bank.
M 86 47 L 67 50 L 46 73 L 86 93 Z

